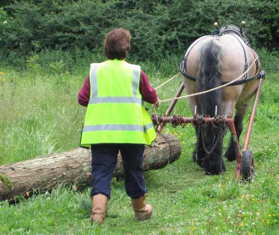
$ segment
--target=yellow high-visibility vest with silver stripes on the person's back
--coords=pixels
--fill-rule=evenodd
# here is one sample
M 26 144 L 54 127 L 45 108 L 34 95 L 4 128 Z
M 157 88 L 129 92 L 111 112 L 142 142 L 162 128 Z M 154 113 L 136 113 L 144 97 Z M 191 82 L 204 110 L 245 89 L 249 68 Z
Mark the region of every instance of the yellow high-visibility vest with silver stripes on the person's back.
M 124 60 L 91 64 L 90 99 L 81 147 L 97 143 L 150 145 L 156 139 L 139 92 L 140 73 L 140 66 Z

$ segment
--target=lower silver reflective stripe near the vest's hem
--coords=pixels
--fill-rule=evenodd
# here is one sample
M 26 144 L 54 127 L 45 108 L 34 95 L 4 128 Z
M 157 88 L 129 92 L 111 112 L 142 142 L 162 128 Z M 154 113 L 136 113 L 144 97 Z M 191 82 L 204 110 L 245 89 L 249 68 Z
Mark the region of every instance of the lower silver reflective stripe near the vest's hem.
M 152 123 L 145 126 L 130 125 L 130 124 L 105 124 L 105 125 L 89 125 L 84 126 L 83 132 L 86 131 L 141 131 L 147 132 L 148 129 L 153 127 Z

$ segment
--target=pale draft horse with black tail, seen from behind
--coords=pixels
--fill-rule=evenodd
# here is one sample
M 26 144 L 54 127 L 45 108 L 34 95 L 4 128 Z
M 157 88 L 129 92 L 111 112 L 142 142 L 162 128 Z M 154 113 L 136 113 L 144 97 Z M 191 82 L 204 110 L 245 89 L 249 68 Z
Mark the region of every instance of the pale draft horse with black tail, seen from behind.
M 198 38 L 188 48 L 180 64 L 187 94 L 206 91 L 236 79 L 247 71 L 257 56 L 242 26 L 226 25 L 218 29 L 215 35 Z M 257 60 L 250 71 L 232 86 L 189 97 L 191 112 L 214 117 L 217 107 L 217 115 L 226 118 L 233 117 L 236 110 L 234 124 L 239 140 L 243 118 L 252 96 L 257 92 L 259 80 L 254 78 L 259 71 L 260 62 Z M 226 125 L 216 127 L 206 124 L 195 128 L 197 140 L 193 161 L 204 168 L 207 175 L 218 175 L 226 171 L 222 159 L 226 131 Z M 228 161 L 236 160 L 232 138 L 225 153 Z

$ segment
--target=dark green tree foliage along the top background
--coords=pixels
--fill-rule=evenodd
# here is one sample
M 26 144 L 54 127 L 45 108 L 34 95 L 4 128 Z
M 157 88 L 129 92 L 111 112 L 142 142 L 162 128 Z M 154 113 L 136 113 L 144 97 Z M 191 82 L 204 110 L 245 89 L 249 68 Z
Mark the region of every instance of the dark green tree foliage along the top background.
M 18 0 L 0 1 L 1 57 L 44 50 L 100 49 L 106 33 L 125 27 L 139 59 L 183 54 L 213 23 L 247 23 L 255 47 L 279 41 L 277 0 Z

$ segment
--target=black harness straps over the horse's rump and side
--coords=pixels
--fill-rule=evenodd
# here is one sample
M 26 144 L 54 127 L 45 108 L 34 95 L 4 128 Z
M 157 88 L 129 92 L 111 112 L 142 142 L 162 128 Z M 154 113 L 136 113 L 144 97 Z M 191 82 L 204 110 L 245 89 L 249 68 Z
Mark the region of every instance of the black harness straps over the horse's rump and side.
M 242 49 L 243 49 L 243 52 L 244 52 L 244 59 L 245 59 L 245 64 L 244 64 L 244 72 L 247 71 L 248 69 L 248 63 L 247 63 L 247 56 L 246 56 L 246 51 L 245 51 L 245 48 L 243 46 L 243 44 L 241 43 L 241 41 L 239 40 L 238 37 L 236 37 L 236 35 L 232 34 L 232 33 L 236 33 L 238 36 L 240 36 L 240 38 L 242 38 L 242 41 L 244 42 L 244 38 L 242 36 L 242 34 L 240 32 L 238 32 L 237 30 L 235 29 L 225 29 L 222 33 L 218 33 L 218 34 L 215 34 L 215 32 L 213 33 L 213 35 L 208 35 L 208 36 L 205 36 L 199 40 L 197 40 L 195 42 L 195 44 L 193 44 L 193 46 L 189 49 L 188 53 L 185 54 L 185 56 L 183 57 L 181 63 L 180 63 L 180 72 L 187 78 L 189 78 L 190 80 L 192 81 L 196 81 L 196 78 L 191 76 L 190 74 L 187 73 L 186 71 L 186 62 L 187 62 L 187 59 L 188 59 L 188 55 L 190 54 L 191 50 L 193 49 L 193 47 L 199 43 L 201 40 L 203 40 L 204 38 L 209 38 L 209 37 L 220 37 L 222 35 L 225 35 L 225 34 L 230 34 L 232 35 L 234 38 L 236 38 L 236 40 L 240 43 Z M 257 57 L 257 53 L 251 48 L 249 47 L 250 50 L 252 51 L 253 53 L 253 56 L 254 58 L 256 59 Z M 184 70 L 185 68 L 185 70 Z M 256 61 L 256 74 L 252 77 L 248 77 L 247 73 L 244 75 L 244 79 L 240 80 L 240 81 L 235 81 L 231 84 L 229 84 L 228 86 L 235 86 L 235 85 L 240 85 L 240 84 L 243 84 L 243 83 L 247 83 L 247 82 L 250 82 L 252 80 L 254 80 L 255 78 L 258 78 L 259 76 L 259 71 L 260 71 L 260 64 L 259 64 L 259 60 Z M 224 84 L 227 84 L 229 82 L 221 82 L 221 85 L 224 85 Z

